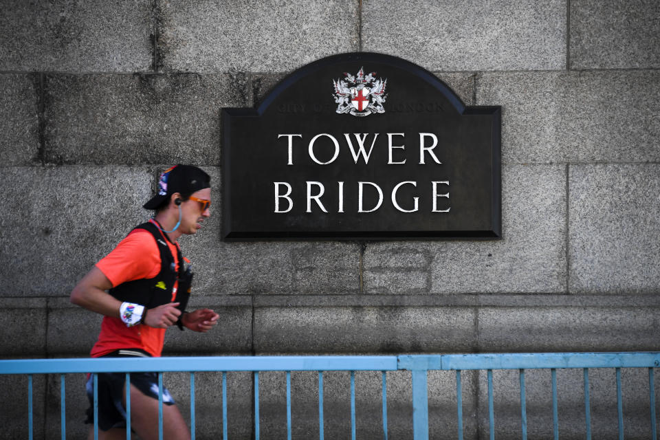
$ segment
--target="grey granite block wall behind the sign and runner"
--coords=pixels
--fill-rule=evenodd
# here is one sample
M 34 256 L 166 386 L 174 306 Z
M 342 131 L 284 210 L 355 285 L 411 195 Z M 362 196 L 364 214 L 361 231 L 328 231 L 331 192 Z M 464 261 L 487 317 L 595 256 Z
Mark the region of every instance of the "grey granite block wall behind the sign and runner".
M 658 350 L 659 47 L 657 0 L 2 0 L 0 356 L 87 355 L 100 318 L 70 305 L 69 292 L 146 219 L 157 174 L 177 162 L 214 182 L 212 219 L 181 245 L 197 272 L 192 304 L 221 320 L 207 336 L 171 331 L 167 354 Z M 502 240 L 219 239 L 221 107 L 250 107 L 294 69 L 359 51 L 417 63 L 466 104 L 502 106 Z M 378 436 L 369 411 L 380 414 L 380 377 L 369 377 L 358 376 L 360 437 Z M 644 436 L 648 385 L 626 377 L 626 435 Z M 342 437 L 347 378 L 334 378 L 326 428 Z M 453 378 L 432 378 L 431 434 L 450 438 Z M 566 373 L 560 388 L 567 437 L 582 436 L 578 379 Z M 264 380 L 262 415 L 280 415 L 283 378 Z M 410 436 L 407 380 L 393 375 L 396 438 Z M 470 438 L 486 435 L 484 380 L 465 377 Z M 498 433 L 517 436 L 517 391 L 505 396 L 517 377 L 496 380 Z M 197 381 L 198 437 L 219 432 L 218 381 Z M 81 383 L 67 378 L 72 435 L 85 430 Z M 250 377 L 230 383 L 230 428 L 249 438 Z M 313 376 L 294 375 L 294 386 L 314 401 Z M 58 380 L 37 379 L 35 393 L 35 433 L 54 437 Z M 531 432 L 549 437 L 546 396 L 528 397 L 538 403 Z M 1 399 L 10 437 L 25 433 L 26 399 Z M 294 434 L 316 437 L 300 399 Z M 607 438 L 616 412 L 602 405 L 594 417 Z M 281 437 L 280 421 L 265 419 L 262 435 Z

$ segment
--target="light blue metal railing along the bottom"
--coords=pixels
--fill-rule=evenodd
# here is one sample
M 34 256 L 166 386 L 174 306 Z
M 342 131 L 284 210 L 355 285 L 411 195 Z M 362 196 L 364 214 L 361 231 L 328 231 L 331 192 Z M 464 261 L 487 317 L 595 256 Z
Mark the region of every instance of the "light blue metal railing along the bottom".
M 557 369 L 582 369 L 584 373 L 584 412 L 586 439 L 591 439 L 591 397 L 589 369 L 615 369 L 617 386 L 617 415 L 619 439 L 624 438 L 623 401 L 621 392 L 621 368 L 648 369 L 650 430 L 657 439 L 654 397 L 654 367 L 660 366 L 660 353 L 506 353 L 467 355 L 389 355 L 389 356 L 256 356 L 256 357 L 183 357 L 183 358 L 102 358 L 102 359 L 39 359 L 0 360 L 0 375 L 28 375 L 28 436 L 34 436 L 32 412 L 32 376 L 35 374 L 61 375 L 61 436 L 65 439 L 65 381 L 66 373 L 91 373 L 94 375 L 94 437 L 98 438 L 98 373 L 126 373 L 126 412 L 131 413 L 130 376 L 135 372 L 157 371 L 159 388 L 159 439 L 163 435 L 163 373 L 190 373 L 190 434 L 195 439 L 195 372 L 222 373 L 223 439 L 228 439 L 227 373 L 248 371 L 254 373 L 254 430 L 259 440 L 259 372 L 284 371 L 286 373 L 287 439 L 292 438 L 291 372 L 318 372 L 319 437 L 324 438 L 323 423 L 323 373 L 325 371 L 349 371 L 351 392 L 351 439 L 355 440 L 355 371 L 382 372 L 382 429 L 388 438 L 386 372 L 407 370 L 412 376 L 412 429 L 415 440 L 426 440 L 428 423 L 428 371 L 454 371 L 456 375 L 456 404 L 458 417 L 457 438 L 463 439 L 463 390 L 461 371 L 485 370 L 488 387 L 489 438 L 494 439 L 494 370 L 518 370 L 520 381 L 520 430 L 527 439 L 527 412 L 525 397 L 525 370 L 549 369 L 551 371 L 553 438 L 559 438 L 557 409 Z M 131 423 L 126 423 L 126 438 L 131 438 Z

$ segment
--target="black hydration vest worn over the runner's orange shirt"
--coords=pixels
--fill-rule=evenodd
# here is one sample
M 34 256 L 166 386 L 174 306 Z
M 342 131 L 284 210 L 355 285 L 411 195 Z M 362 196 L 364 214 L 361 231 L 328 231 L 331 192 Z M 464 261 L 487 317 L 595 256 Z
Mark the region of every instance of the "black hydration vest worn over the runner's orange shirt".
M 160 252 L 160 272 L 153 278 L 142 278 L 140 280 L 126 281 L 113 287 L 108 292 L 118 300 L 126 303 L 144 305 L 146 309 L 153 309 L 159 305 L 172 302 L 172 292 L 178 280 L 177 296 L 175 300 L 179 304 L 177 309 L 183 312 L 186 309 L 190 297 L 190 285 L 192 284 L 192 272 L 190 267 L 184 270 L 184 257 L 177 246 L 177 260 L 179 270 L 176 270 L 174 256 L 170 251 L 166 238 L 157 226 L 151 222 L 142 223 L 133 230 L 144 229 L 149 232 L 156 241 Z

